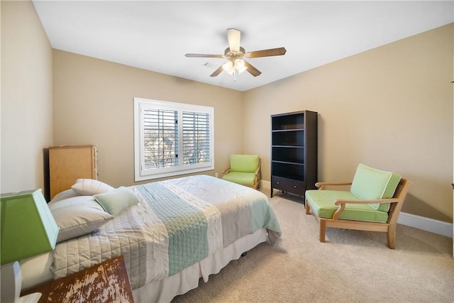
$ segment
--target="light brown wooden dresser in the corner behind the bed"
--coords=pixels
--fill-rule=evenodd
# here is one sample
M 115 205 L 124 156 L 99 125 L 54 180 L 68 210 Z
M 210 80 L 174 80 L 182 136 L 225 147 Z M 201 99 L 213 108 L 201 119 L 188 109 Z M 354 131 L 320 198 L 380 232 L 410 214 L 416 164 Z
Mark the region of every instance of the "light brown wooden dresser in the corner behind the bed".
M 70 189 L 77 179 L 96 180 L 96 145 L 62 145 L 49 148 L 50 199 Z

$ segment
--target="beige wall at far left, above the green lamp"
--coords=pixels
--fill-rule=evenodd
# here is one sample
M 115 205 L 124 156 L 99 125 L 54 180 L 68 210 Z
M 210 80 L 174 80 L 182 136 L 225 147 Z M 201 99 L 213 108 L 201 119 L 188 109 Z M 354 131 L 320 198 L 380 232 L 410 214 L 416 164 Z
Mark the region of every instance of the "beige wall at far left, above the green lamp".
M 52 48 L 31 1 L 1 1 L 1 192 L 43 188 Z

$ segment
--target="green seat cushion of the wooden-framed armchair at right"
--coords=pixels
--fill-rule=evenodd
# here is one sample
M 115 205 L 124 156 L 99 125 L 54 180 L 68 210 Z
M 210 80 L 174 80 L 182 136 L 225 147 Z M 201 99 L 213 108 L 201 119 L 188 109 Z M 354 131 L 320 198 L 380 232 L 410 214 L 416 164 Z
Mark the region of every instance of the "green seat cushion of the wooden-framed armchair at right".
M 315 189 L 306 190 L 305 197 L 312 211 L 321 218 L 333 218 L 334 211 L 338 209 L 334 202 L 338 199 L 360 199 L 351 192 Z M 386 211 L 377 210 L 369 204 L 345 204 L 345 209 L 339 219 L 384 223 L 388 220 L 388 214 Z

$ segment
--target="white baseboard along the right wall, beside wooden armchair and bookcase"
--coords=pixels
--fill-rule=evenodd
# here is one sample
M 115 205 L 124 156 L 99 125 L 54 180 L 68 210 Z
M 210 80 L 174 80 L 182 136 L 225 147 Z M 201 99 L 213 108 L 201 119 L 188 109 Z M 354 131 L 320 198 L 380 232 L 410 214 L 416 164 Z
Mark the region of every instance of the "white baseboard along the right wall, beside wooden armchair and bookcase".
M 260 187 L 271 189 L 271 182 L 260 180 Z M 453 224 L 445 221 L 417 216 L 416 214 L 408 214 L 401 211 L 397 223 L 453 238 Z

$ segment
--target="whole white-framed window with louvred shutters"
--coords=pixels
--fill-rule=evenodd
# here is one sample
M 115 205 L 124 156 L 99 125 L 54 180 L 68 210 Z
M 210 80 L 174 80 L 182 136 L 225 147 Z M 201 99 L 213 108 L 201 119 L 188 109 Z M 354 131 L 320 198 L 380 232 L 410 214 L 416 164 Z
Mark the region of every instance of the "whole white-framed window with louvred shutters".
M 214 108 L 134 98 L 135 181 L 214 170 Z

